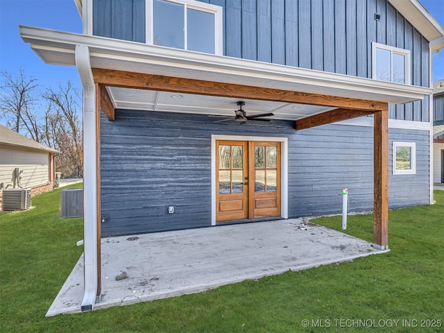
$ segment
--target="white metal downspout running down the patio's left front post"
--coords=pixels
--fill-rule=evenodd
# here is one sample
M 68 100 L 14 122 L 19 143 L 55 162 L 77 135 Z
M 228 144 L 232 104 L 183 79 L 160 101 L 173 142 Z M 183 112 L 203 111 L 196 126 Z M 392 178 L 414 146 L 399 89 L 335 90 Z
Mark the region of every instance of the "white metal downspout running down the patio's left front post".
M 84 293 L 82 311 L 92 310 L 97 293 L 96 89 L 89 49 L 76 45 L 76 66 L 83 87 Z

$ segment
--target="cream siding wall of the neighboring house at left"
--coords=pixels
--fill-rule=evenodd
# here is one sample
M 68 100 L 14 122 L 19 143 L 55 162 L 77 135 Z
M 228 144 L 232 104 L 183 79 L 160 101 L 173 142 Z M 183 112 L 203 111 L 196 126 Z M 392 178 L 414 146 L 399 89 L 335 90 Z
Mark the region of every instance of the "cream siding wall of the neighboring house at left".
M 0 146 L 0 182 L 10 184 L 15 168 L 23 169 L 23 188 L 43 185 L 50 181 L 48 152 Z

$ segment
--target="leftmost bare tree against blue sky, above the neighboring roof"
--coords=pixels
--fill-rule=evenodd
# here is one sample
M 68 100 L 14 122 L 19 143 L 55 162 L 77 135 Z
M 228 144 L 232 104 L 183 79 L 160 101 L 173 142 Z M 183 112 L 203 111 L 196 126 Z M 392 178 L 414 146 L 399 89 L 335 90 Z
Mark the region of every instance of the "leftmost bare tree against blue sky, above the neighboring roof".
M 17 133 L 24 126 L 25 135 L 31 135 L 35 141 L 39 141 L 38 119 L 33 107 L 35 105 L 35 94 L 37 79 L 28 77 L 20 69 L 19 76 L 15 77 L 8 71 L 2 71 L 1 76 L 5 83 L 0 91 L 0 111 L 6 118 L 6 124 Z

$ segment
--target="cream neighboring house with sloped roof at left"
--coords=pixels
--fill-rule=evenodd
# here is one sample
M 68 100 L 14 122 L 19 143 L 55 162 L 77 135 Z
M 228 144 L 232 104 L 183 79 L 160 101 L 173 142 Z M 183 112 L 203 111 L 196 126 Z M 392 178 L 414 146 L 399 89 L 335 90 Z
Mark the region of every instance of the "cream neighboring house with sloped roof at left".
M 32 195 L 51 191 L 55 176 L 54 155 L 58 153 L 0 125 L 1 188 L 31 189 Z

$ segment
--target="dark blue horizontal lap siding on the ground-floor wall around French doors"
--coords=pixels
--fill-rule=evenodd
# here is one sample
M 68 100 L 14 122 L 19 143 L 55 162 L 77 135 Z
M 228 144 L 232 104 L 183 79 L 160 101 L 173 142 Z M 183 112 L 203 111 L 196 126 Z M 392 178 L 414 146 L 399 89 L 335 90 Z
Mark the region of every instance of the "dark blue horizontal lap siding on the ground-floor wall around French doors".
M 213 134 L 287 137 L 290 218 L 341 212 L 343 187 L 350 211 L 373 209 L 373 128 L 296 131 L 293 121 L 212 121 L 139 110 L 116 110 L 116 120 L 108 121 L 102 114 L 101 210 L 110 218 L 102 223 L 104 237 L 210 226 Z M 415 175 L 389 178 L 390 207 L 427 204 L 427 131 L 390 129 L 389 140 L 390 149 L 393 141 L 416 142 L 417 152 Z M 174 214 L 167 214 L 168 205 Z

